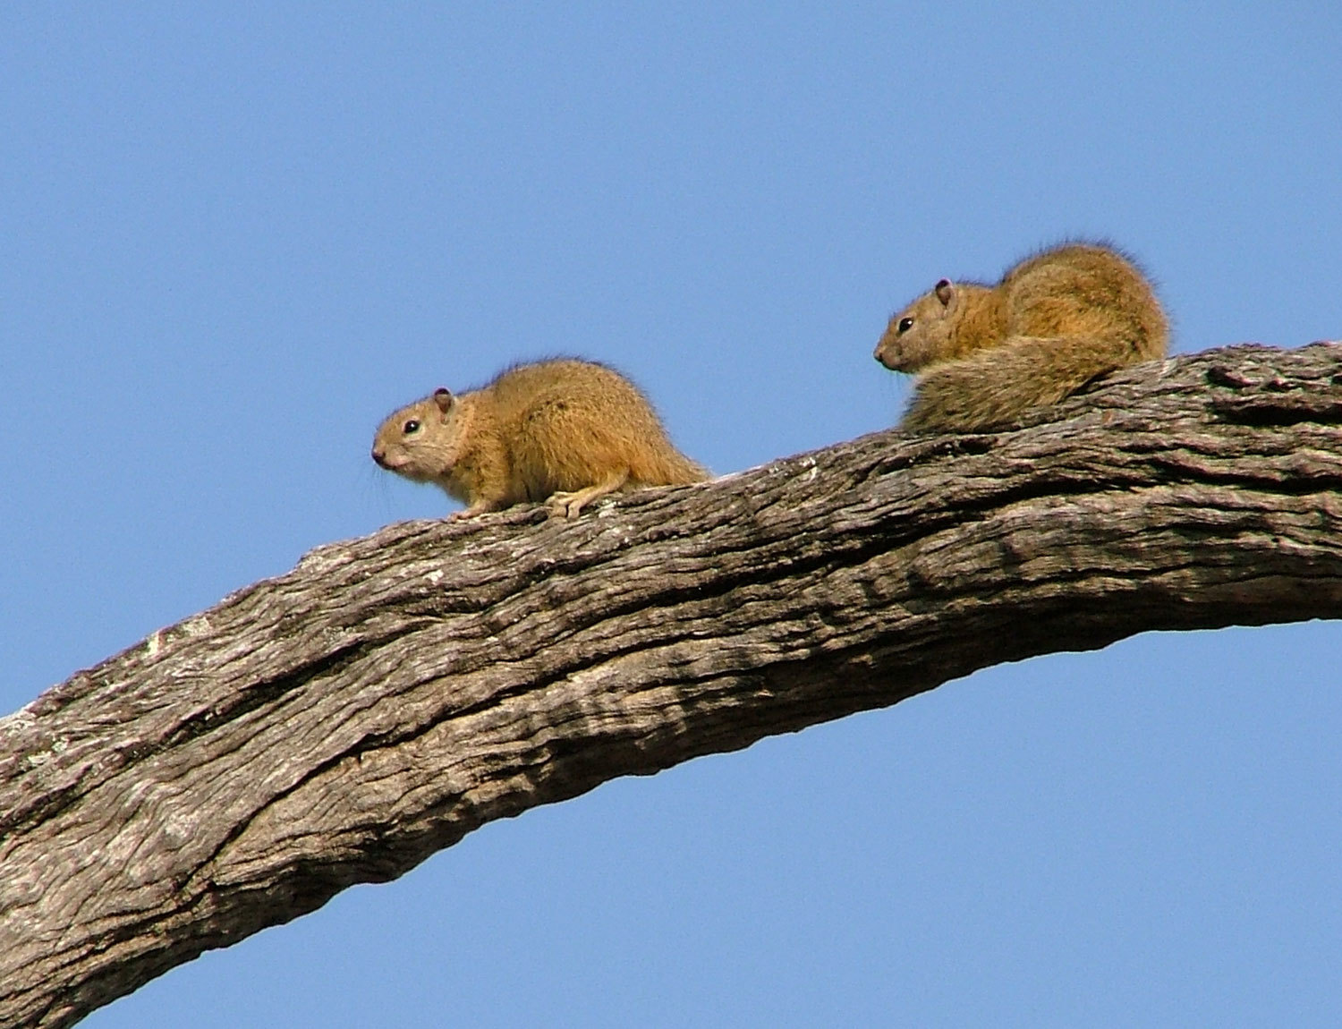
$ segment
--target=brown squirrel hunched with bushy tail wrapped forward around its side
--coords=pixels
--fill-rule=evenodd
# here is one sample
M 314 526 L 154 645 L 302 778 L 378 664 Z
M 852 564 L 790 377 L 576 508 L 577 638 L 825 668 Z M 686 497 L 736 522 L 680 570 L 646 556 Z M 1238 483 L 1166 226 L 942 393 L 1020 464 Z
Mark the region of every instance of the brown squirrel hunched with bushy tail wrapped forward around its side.
M 923 373 L 902 428 L 973 432 L 1164 357 L 1168 341 L 1159 302 L 1129 258 L 1064 243 L 1013 266 L 996 286 L 942 279 L 891 317 L 876 360 Z

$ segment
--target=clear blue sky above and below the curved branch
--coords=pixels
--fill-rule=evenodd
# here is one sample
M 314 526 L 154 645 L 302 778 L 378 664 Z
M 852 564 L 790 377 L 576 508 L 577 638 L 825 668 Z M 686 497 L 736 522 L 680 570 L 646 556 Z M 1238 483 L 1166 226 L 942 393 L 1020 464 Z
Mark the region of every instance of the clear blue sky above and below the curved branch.
M 1066 236 L 1177 350 L 1342 337 L 1342 12 L 1122 9 L 4 5 L 0 708 L 444 514 L 372 431 L 515 360 L 615 364 L 726 472 L 892 424 L 891 309 Z M 488 825 L 87 1025 L 1335 1025 L 1339 651 L 984 671 Z

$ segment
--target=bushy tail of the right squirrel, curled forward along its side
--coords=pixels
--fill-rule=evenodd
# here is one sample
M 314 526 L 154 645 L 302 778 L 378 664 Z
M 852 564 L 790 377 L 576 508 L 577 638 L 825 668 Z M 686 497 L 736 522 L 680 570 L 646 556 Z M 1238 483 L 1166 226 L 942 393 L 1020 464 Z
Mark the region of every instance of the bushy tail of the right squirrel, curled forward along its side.
M 1016 337 L 922 376 L 900 428 L 976 432 L 1002 425 L 1139 360 L 1133 342 L 1117 335 Z

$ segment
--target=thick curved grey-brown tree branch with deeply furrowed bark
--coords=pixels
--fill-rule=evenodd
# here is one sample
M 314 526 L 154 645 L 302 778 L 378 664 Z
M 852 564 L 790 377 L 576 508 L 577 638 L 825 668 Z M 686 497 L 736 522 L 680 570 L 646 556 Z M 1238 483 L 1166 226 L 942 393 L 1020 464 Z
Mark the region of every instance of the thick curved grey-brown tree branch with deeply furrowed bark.
M 314 550 L 0 720 L 0 1022 L 617 775 L 1145 629 L 1342 614 L 1342 345 L 1130 369 L 576 522 Z

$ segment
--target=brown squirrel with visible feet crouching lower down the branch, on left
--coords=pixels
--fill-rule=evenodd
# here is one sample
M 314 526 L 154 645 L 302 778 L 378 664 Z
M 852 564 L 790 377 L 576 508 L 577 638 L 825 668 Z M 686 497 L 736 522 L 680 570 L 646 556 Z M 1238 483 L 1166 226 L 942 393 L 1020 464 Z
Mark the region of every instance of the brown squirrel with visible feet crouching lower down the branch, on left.
M 482 389 L 446 389 L 391 415 L 373 460 L 467 504 L 458 517 L 545 500 L 574 518 L 599 496 L 703 482 L 647 397 L 605 365 L 573 358 L 513 365 Z

